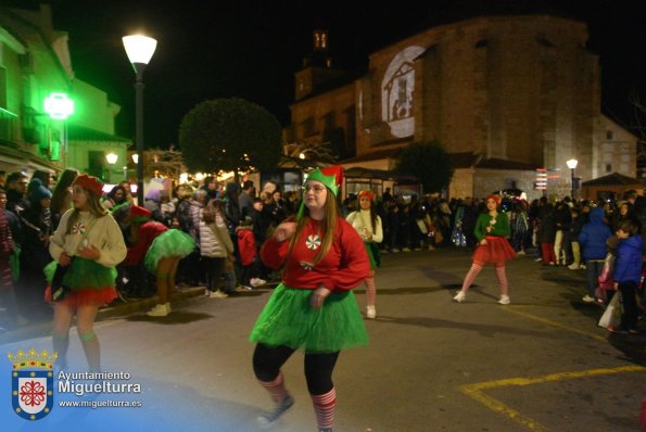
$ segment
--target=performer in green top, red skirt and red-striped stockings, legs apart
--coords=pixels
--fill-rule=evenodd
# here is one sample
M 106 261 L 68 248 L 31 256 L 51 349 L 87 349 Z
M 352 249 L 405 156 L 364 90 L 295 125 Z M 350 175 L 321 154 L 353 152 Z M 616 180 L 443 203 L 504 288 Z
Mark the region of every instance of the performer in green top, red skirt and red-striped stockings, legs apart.
M 474 234 L 478 239 L 478 246 L 471 259 L 473 264 L 463 282 L 463 289 L 453 297 L 461 303 L 467 296 L 467 291 L 476 277 L 486 263 L 493 264 L 501 284 L 501 298 L 498 303 L 508 305 L 509 289 L 507 287 L 507 275 L 505 274 L 505 262 L 516 257 L 516 252 L 507 241 L 509 237 L 509 219 L 507 215 L 498 213 L 501 198 L 489 195 L 486 198 L 486 213 L 481 213 L 476 221 Z

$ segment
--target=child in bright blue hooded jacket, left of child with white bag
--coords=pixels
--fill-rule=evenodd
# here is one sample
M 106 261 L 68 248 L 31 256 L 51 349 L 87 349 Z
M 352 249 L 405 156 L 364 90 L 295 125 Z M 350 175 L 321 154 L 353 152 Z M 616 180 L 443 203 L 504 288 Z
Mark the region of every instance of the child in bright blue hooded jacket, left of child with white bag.
M 585 303 L 593 303 L 599 276 L 606 259 L 606 242 L 612 231 L 604 221 L 604 209 L 595 207 L 590 212 L 590 220 L 581 228 L 579 245 L 583 251 L 586 268 L 587 294 L 582 298 Z

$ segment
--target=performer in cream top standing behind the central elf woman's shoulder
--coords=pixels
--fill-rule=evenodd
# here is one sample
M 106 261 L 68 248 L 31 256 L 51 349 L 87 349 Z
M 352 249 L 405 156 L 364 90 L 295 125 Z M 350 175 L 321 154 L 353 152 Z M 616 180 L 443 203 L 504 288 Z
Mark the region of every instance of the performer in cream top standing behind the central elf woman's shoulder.
M 370 258 L 371 271 L 366 278 L 366 318 L 377 317 L 375 301 L 377 300 L 377 287 L 375 285 L 375 269 L 381 266 L 378 243 L 383 240 L 381 218 L 375 208 L 375 194 L 370 191 L 360 191 L 357 195 L 359 211 L 347 215 L 346 220 L 357 230 L 364 241 L 366 252 Z

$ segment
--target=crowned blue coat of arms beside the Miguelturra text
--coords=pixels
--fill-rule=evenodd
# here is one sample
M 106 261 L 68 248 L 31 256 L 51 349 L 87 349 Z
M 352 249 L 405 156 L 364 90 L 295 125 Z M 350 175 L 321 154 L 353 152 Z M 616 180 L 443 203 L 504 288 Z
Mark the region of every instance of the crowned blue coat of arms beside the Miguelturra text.
M 22 350 L 9 360 L 13 363 L 11 372 L 11 402 L 13 411 L 26 420 L 40 420 L 51 412 L 54 405 L 53 364 L 58 353 L 31 348 Z

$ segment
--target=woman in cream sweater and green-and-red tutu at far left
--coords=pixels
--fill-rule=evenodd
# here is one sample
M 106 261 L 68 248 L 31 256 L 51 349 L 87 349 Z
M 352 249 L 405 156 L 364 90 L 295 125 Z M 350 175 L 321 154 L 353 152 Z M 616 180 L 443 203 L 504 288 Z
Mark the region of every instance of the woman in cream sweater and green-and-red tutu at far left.
M 54 261 L 45 267 L 49 283 L 45 298 L 55 302 L 52 339 L 61 368 L 66 367 L 69 327 L 76 315 L 89 369 L 101 369 L 94 319 L 100 306 L 116 298 L 115 266 L 126 257 L 119 227 L 99 201 L 102 188 L 96 177 L 78 176 L 72 190 L 74 208 L 65 212 L 50 238 Z

